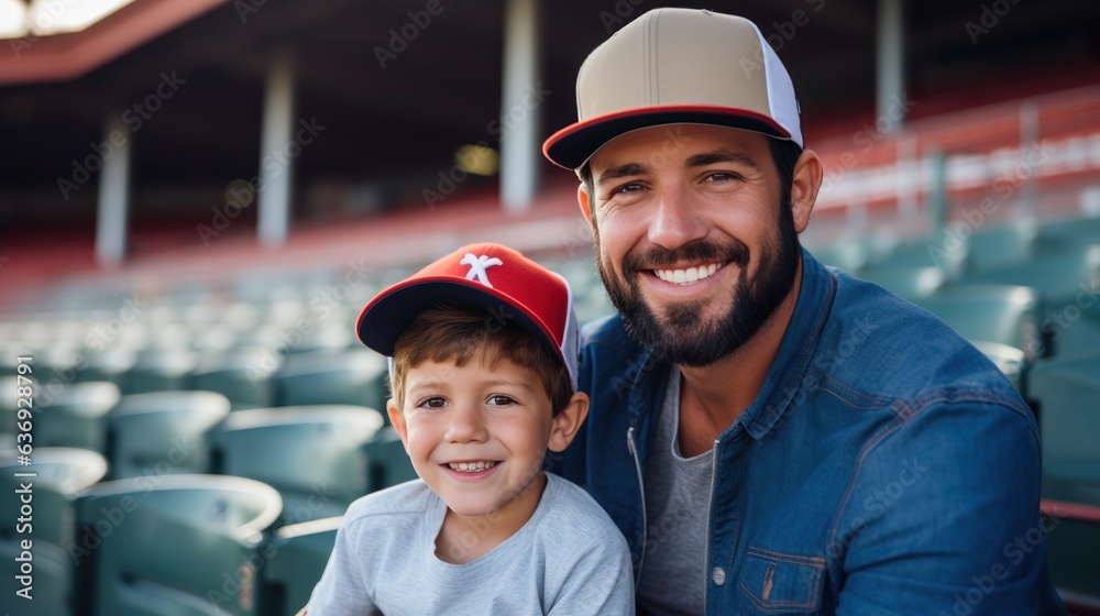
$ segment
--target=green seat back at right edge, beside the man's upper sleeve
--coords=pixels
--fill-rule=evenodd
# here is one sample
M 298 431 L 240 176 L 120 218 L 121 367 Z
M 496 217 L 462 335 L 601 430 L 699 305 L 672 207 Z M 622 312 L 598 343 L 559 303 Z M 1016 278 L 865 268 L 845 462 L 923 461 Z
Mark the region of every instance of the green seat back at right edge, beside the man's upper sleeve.
M 1038 406 L 1043 474 L 1100 486 L 1100 353 L 1038 362 L 1028 388 Z

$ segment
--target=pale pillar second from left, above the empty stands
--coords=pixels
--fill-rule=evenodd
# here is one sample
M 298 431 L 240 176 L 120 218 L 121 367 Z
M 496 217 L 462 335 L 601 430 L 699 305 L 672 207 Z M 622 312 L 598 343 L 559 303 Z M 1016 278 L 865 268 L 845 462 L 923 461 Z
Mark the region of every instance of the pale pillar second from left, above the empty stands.
M 256 234 L 264 246 L 278 248 L 286 243 L 290 228 L 295 158 L 289 154 L 298 153 L 288 147 L 294 142 L 295 125 L 294 61 L 288 53 L 272 59 L 262 121 Z

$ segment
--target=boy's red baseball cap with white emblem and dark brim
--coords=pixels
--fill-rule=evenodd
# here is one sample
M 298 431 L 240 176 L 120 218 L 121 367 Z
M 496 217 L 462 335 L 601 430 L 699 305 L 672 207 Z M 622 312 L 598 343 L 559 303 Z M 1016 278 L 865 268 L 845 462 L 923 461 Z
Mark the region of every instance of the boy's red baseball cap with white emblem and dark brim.
M 580 328 L 569 283 L 499 244 L 463 246 L 383 290 L 363 307 L 355 330 L 363 344 L 393 356 L 417 315 L 454 304 L 484 308 L 490 319 L 529 331 L 561 359 L 576 391 Z

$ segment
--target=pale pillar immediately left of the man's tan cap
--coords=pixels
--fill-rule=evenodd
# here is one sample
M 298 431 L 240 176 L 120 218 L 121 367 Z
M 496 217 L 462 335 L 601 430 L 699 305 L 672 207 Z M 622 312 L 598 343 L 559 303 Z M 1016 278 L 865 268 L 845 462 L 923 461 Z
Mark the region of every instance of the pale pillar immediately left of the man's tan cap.
M 504 11 L 501 199 L 506 211 L 521 212 L 538 193 L 544 96 L 539 80 L 539 1 L 507 0 Z

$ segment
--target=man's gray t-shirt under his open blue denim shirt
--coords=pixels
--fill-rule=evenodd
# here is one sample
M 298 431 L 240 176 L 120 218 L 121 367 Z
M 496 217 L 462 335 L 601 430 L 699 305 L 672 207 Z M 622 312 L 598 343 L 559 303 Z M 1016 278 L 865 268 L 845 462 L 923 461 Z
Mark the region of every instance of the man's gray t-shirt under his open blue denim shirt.
M 680 455 L 680 371 L 673 369 L 653 447 L 646 460 L 646 557 L 638 581 L 639 612 L 703 614 L 706 513 L 714 450 Z

